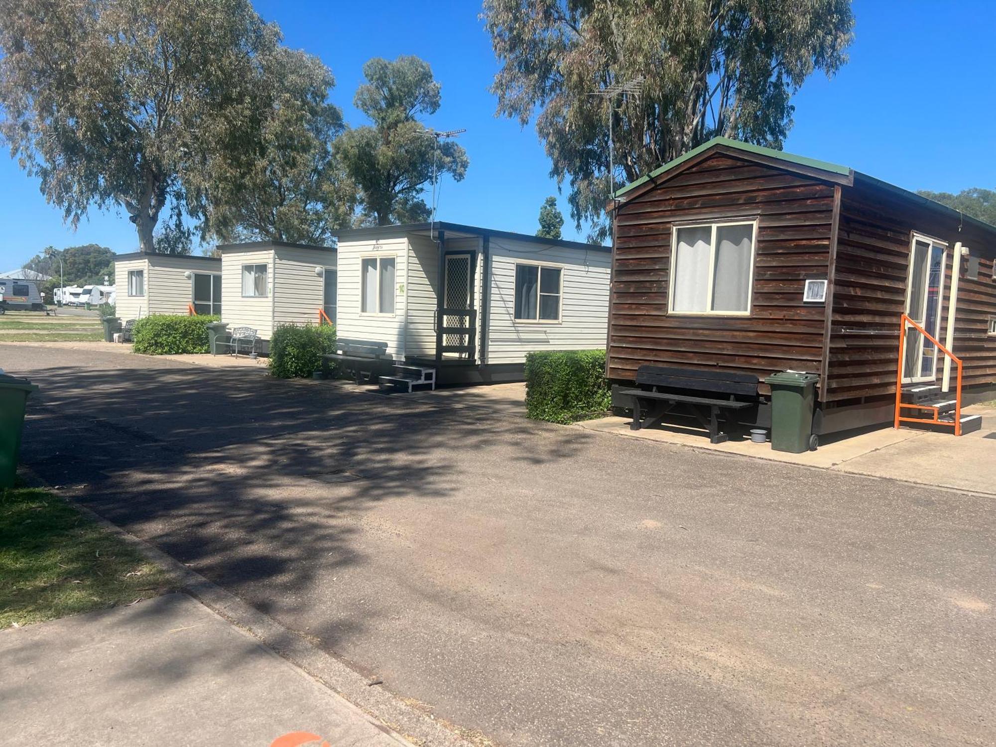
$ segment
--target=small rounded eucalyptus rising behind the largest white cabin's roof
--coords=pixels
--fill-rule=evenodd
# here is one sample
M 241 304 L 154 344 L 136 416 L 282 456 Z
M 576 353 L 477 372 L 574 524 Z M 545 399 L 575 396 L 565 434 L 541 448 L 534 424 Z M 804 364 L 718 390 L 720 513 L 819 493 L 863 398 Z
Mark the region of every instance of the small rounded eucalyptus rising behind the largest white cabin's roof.
M 453 141 L 436 142 L 418 117 L 432 115 L 440 105 L 440 85 L 428 63 L 401 56 L 394 61 L 374 58 L 364 66 L 367 83 L 354 105 L 370 125 L 347 130 L 335 151 L 360 190 L 359 222 L 373 225 L 427 220 L 422 197 L 432 178 L 448 173 L 454 180 L 467 170 L 467 154 Z

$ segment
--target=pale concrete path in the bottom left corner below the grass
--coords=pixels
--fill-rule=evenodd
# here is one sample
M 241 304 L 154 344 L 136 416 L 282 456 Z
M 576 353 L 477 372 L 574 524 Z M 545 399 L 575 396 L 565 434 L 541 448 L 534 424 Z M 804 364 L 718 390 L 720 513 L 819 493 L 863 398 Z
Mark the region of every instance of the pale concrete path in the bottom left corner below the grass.
M 0 745 L 409 744 L 182 594 L 4 630 L 0 661 Z

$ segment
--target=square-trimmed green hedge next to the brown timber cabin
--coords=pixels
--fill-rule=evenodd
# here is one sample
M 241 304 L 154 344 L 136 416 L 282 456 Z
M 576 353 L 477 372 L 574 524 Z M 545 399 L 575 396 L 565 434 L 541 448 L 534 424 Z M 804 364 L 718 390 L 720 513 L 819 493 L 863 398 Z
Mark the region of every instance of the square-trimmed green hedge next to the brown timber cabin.
M 534 420 L 588 420 L 611 405 L 605 351 L 526 355 L 526 410 Z

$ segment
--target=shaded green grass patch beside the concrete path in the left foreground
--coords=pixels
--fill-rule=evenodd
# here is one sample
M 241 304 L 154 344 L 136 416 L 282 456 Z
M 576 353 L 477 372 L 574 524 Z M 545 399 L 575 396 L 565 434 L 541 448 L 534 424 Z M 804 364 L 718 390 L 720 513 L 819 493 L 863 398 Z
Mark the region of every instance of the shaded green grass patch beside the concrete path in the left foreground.
M 165 571 L 58 496 L 0 488 L 0 629 L 124 605 L 173 586 Z

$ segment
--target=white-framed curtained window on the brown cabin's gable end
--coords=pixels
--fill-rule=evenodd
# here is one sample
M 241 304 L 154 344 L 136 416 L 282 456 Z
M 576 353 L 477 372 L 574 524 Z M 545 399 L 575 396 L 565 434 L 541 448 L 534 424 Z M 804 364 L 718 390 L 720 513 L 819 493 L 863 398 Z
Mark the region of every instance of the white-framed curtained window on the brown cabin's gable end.
M 750 314 L 755 221 L 675 226 L 668 311 Z

